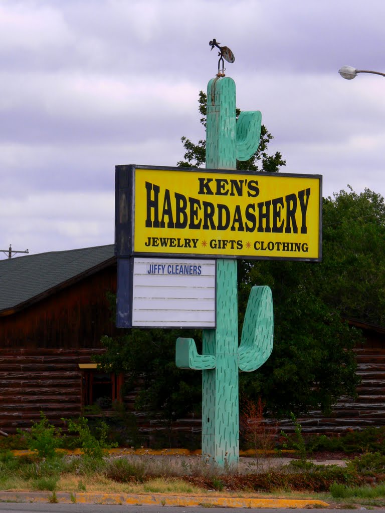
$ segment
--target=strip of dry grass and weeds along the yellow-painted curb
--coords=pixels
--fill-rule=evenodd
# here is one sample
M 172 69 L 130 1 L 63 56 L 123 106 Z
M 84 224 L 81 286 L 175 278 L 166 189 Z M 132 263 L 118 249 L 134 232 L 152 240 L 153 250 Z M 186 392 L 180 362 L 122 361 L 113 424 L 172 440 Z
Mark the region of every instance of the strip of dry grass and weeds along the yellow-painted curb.
M 271 463 L 272 460 L 266 465 Z M 302 483 L 305 474 L 309 476 L 310 481 L 318 481 L 318 469 L 315 470 L 313 467 L 277 466 L 275 463 L 274 469 L 269 471 L 265 479 L 269 481 L 278 473 L 282 476 L 282 483 L 286 482 L 284 478 L 288 475 L 297 476 L 297 482 Z M 341 470 L 336 473 L 333 466 L 324 469 L 323 478 L 326 476 L 329 479 L 330 492 L 294 491 L 291 486 L 279 487 L 279 481 L 276 489 L 261 492 L 262 489 L 253 486 L 257 481 L 249 479 L 258 476 L 261 471 L 260 465 L 253 465 L 252 462 L 243 465 L 243 475 L 235 472 L 235 469 L 229 469 L 227 472 L 233 474 L 228 476 L 223 469 L 202 460 L 199 456 L 169 458 L 145 455 L 90 460 L 84 456 L 67 455 L 52 460 L 39 460 L 34 456 L 15 458 L 7 455 L 0 458 L 0 489 L 47 490 L 52 501 L 56 498 L 57 492 L 67 492 L 72 502 L 76 502 L 76 495 L 86 491 L 106 494 L 201 496 L 205 498 L 203 502 L 206 507 L 209 507 L 209 499 L 215 497 L 318 499 L 339 506 L 344 505 L 346 508 L 354 504 L 364 507 L 385 506 L 385 485 L 379 483 L 374 487 L 353 486 L 352 482 L 351 486 L 338 482 L 333 484 L 336 476 L 341 475 Z M 250 486 L 230 490 L 231 481 L 250 483 Z

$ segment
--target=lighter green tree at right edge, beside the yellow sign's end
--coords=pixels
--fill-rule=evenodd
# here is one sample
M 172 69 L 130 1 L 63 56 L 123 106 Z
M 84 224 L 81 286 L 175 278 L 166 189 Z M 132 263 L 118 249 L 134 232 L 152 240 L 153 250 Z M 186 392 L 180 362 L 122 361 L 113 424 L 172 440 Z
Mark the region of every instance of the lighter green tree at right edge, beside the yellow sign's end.
M 320 293 L 344 317 L 384 325 L 384 199 L 348 187 L 324 200 L 322 269 L 330 279 L 320 276 Z

